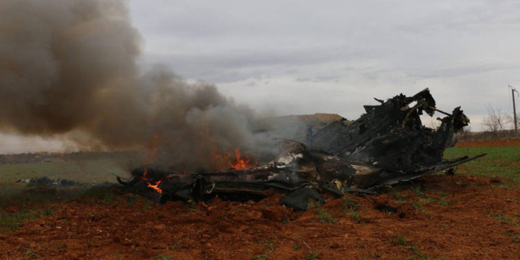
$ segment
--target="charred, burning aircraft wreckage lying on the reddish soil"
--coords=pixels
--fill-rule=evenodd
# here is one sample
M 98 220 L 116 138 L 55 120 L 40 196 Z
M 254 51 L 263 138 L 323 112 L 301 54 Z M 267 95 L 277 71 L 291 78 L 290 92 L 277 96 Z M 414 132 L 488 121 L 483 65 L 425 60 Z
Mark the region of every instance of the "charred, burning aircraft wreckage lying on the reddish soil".
M 460 107 L 451 114 L 437 110 L 428 89 L 415 96 L 400 94 L 376 101 L 381 104 L 365 105 L 366 113 L 356 121 L 333 121 L 308 135 L 307 144 L 282 140 L 283 152 L 265 165 L 193 174 L 141 166 L 132 171 L 132 180 L 117 180 L 123 191 L 162 203 L 214 196 L 258 200 L 272 189 L 287 194 L 281 204 L 306 210 L 309 200 L 322 200 L 320 193 L 378 193 L 428 173 L 447 169 L 453 174 L 452 167 L 485 155 L 442 158 L 469 119 Z M 437 118 L 442 122 L 439 128 L 431 129 L 422 125 L 423 112 L 446 116 Z

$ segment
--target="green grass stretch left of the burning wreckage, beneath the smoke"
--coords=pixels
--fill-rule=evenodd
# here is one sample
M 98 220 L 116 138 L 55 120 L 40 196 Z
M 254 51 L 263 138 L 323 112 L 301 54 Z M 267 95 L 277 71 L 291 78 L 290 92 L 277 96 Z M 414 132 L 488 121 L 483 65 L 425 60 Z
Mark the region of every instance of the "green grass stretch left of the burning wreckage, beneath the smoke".
M 49 202 L 62 202 L 81 197 L 99 197 L 103 202 L 114 202 L 113 193 L 99 188 L 89 190 L 87 185 L 71 187 L 28 187 L 16 183 L 20 179 L 49 177 L 53 180 L 67 179 L 80 183 L 115 182 L 114 175 L 128 176 L 121 167 L 123 159 L 88 158 L 62 162 L 34 162 L 26 164 L 0 164 L 0 211 L 6 207 L 39 207 Z M 97 194 L 96 194 L 97 193 Z

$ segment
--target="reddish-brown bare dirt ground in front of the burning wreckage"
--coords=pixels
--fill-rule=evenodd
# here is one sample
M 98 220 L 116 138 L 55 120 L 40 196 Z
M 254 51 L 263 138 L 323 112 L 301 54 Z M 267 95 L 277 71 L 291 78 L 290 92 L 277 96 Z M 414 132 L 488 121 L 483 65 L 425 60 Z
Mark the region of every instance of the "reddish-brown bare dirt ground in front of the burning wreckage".
M 114 189 L 52 202 L 0 234 L 0 259 L 520 259 L 510 180 L 430 175 L 381 196 L 328 196 L 306 212 L 280 198 L 155 205 Z

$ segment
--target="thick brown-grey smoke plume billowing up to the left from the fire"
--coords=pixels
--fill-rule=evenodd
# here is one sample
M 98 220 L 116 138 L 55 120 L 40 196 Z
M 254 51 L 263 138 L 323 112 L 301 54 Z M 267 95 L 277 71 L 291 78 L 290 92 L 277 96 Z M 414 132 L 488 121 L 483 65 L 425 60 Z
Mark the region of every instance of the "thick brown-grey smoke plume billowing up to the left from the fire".
M 0 130 L 73 133 L 79 147 L 94 140 L 106 149 L 155 137 L 160 162 L 188 169 L 234 148 L 272 153 L 254 112 L 214 85 L 160 66 L 140 71 L 141 44 L 125 1 L 2 0 Z

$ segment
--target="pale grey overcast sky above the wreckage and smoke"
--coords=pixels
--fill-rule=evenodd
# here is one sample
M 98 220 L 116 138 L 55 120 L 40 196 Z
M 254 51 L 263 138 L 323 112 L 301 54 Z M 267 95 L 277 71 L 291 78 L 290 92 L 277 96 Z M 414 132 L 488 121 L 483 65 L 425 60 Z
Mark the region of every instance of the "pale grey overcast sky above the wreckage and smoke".
M 520 1 L 132 0 L 130 12 L 143 67 L 168 64 L 264 114 L 356 119 L 372 97 L 428 87 L 481 130 L 520 88 Z

